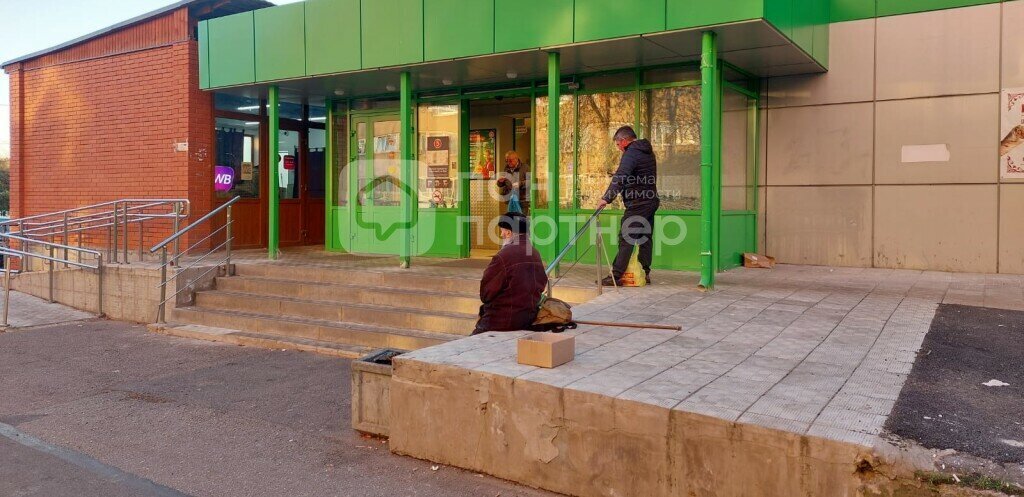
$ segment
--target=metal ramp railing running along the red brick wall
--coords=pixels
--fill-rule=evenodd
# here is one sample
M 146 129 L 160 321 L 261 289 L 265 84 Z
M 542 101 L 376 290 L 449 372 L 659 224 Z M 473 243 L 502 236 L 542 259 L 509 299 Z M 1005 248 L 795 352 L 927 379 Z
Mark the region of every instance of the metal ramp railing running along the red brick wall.
M 109 262 L 130 263 L 128 254 L 132 224 L 138 227 L 138 257 L 142 260 L 145 252 L 146 221 L 169 220 L 171 231 L 177 232 L 181 220 L 188 217 L 189 210 L 190 204 L 187 199 L 113 200 L 0 222 L 0 242 L 5 242 L 7 247 L 20 246 L 24 249 L 27 248 L 24 242 L 11 239 L 12 236 L 49 243 L 60 240 L 62 245 L 69 247 L 62 249 L 63 260 L 70 260 L 74 238 L 80 249 L 87 243 L 104 247 Z M 177 253 L 175 246 L 175 254 Z M 32 271 L 32 259 L 35 255 L 25 254 L 23 271 Z M 78 255 L 81 261 L 81 253 Z M 63 260 L 61 263 L 65 267 L 73 265 L 65 263 Z

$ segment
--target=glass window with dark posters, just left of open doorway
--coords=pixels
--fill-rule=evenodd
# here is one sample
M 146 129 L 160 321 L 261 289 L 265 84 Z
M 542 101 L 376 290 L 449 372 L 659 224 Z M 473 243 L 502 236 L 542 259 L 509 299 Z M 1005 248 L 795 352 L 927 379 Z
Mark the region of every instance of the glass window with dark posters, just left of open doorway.
M 459 105 L 420 106 L 420 208 L 456 208 L 459 202 Z

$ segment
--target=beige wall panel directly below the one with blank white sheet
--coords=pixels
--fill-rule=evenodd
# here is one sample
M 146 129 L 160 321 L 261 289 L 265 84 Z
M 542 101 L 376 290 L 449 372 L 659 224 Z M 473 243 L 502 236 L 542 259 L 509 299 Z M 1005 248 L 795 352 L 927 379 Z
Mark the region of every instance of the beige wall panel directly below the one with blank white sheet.
M 994 184 L 877 187 L 874 265 L 994 273 L 995 189 Z

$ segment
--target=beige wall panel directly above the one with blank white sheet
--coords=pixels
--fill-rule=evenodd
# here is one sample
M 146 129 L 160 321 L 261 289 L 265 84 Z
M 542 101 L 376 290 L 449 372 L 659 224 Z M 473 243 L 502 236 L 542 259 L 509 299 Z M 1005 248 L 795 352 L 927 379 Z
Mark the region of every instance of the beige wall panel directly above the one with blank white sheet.
M 878 99 L 999 86 L 999 4 L 878 19 Z

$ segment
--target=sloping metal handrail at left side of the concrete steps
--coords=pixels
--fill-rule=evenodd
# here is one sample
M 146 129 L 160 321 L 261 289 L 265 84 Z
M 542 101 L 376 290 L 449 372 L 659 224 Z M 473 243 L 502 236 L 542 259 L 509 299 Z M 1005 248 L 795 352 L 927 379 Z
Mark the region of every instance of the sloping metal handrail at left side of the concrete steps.
M 153 248 L 150 249 L 150 253 L 156 253 L 158 250 L 160 251 L 160 262 L 161 262 L 161 264 L 160 264 L 160 285 L 159 285 L 159 288 L 160 288 L 160 304 L 158 305 L 158 308 L 157 308 L 157 323 L 165 323 L 166 322 L 166 317 L 167 317 L 166 316 L 167 315 L 167 302 L 169 302 L 171 299 L 177 298 L 178 294 L 181 293 L 181 292 L 183 292 L 183 291 L 185 291 L 185 290 L 193 291 L 194 290 L 193 285 L 197 281 L 199 281 L 203 277 L 205 277 L 206 275 L 209 275 L 210 272 L 212 272 L 212 271 L 214 271 L 214 270 L 216 270 L 218 267 L 223 266 L 225 268 L 225 274 L 226 275 L 230 275 L 230 273 L 231 273 L 231 242 L 234 240 L 234 235 L 231 233 L 231 224 L 234 223 L 234 220 L 231 218 L 231 206 L 234 205 L 234 203 L 238 202 L 240 199 L 242 199 L 242 197 L 234 197 L 233 199 L 231 199 L 231 200 L 225 202 L 224 204 L 222 204 L 220 207 L 217 207 L 216 209 L 211 210 L 209 213 L 207 213 L 203 217 L 200 217 L 199 219 L 196 219 L 195 221 L 193 221 L 193 223 L 188 224 L 187 226 L 182 227 L 181 230 L 175 230 L 175 232 L 174 232 L 173 235 L 171 235 L 170 237 L 167 237 L 166 239 L 164 239 L 163 242 L 158 243 L 157 245 L 155 245 Z M 224 221 L 223 225 L 221 225 L 220 227 L 218 227 L 216 230 L 211 231 L 209 235 L 207 235 L 207 236 L 199 239 L 198 241 L 196 241 L 195 243 L 193 243 L 188 248 L 186 248 L 186 249 L 184 249 L 184 250 L 182 250 L 180 252 L 178 251 L 178 249 L 177 249 L 178 240 L 181 238 L 182 235 L 184 235 L 184 234 L 193 231 L 196 226 L 198 226 L 200 224 L 203 224 L 203 223 L 209 221 L 210 219 L 213 219 L 213 217 L 216 216 L 221 211 L 226 211 L 226 215 L 227 215 L 227 218 Z M 224 232 L 224 241 L 222 243 L 220 243 L 216 247 L 213 247 L 213 248 L 207 250 L 205 253 L 203 253 L 202 255 L 198 256 L 195 260 L 189 261 L 188 264 L 185 265 L 184 267 L 178 266 L 177 270 L 174 272 L 173 276 L 171 276 L 170 278 L 167 277 L 167 268 L 168 268 L 168 266 L 170 266 L 170 265 L 177 266 L 178 265 L 178 258 L 180 256 L 188 254 L 193 249 L 199 247 L 201 244 L 203 244 L 207 240 L 210 240 L 211 238 L 217 236 L 221 232 Z M 171 258 L 168 258 L 167 246 L 168 245 L 172 245 L 172 244 L 175 247 L 174 248 L 174 256 L 171 257 Z M 223 258 L 221 258 L 219 261 L 217 261 L 217 263 L 211 265 L 209 268 L 207 268 L 203 273 L 199 274 L 198 276 L 196 276 L 194 278 L 190 278 L 188 280 L 188 282 L 184 286 L 182 286 L 176 292 L 174 292 L 173 294 L 171 294 L 171 296 L 167 296 L 167 285 L 169 285 L 171 282 L 176 281 L 177 278 L 178 278 L 178 276 L 187 273 L 189 270 L 191 270 L 193 267 L 195 267 L 200 262 L 206 260 L 207 257 L 209 257 L 211 254 L 217 252 L 220 249 L 224 249 L 224 257 Z

